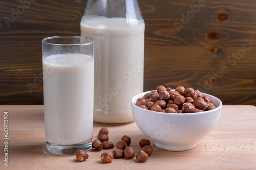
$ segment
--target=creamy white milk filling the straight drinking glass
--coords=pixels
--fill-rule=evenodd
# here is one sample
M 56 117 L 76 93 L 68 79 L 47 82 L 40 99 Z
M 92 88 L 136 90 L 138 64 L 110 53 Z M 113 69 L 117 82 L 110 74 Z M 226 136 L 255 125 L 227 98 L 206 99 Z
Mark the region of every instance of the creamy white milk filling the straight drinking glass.
M 94 59 L 81 54 L 57 54 L 44 58 L 42 66 L 46 140 L 60 145 L 90 140 Z

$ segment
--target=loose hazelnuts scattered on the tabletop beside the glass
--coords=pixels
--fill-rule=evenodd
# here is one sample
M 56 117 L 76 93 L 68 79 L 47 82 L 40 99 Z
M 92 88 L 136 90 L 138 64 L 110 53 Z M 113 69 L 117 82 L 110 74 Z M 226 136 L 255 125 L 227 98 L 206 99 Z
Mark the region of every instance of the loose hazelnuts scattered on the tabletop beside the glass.
M 101 151 L 102 149 L 113 149 L 114 144 L 109 141 L 109 130 L 106 127 L 100 129 L 98 138 L 92 142 L 92 149 L 96 151 Z M 117 142 L 116 148 L 112 154 L 115 158 L 134 158 L 136 155 L 135 149 L 130 146 L 131 137 L 124 135 L 121 137 L 121 140 Z M 152 154 L 153 148 L 151 147 L 151 142 L 148 139 L 141 139 L 139 145 L 142 148 L 136 155 L 136 159 L 139 162 L 145 162 L 148 160 L 148 157 Z M 113 160 L 113 156 L 110 152 L 104 152 L 100 155 L 100 158 L 103 162 L 110 163 Z M 89 155 L 86 151 L 80 150 L 76 154 L 76 159 L 78 161 L 85 161 L 89 158 Z

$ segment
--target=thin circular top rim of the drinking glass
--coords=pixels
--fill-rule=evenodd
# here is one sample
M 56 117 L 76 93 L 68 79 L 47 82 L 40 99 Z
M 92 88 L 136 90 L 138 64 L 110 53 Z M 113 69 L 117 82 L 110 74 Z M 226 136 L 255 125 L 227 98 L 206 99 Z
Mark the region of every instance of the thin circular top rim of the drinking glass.
M 47 40 L 50 40 L 50 39 L 57 39 L 57 38 L 79 38 L 79 39 L 91 40 L 91 42 L 77 43 L 77 44 L 60 44 L 60 43 L 50 43 L 50 42 L 47 42 Z M 93 43 L 94 43 L 94 39 L 89 38 L 89 37 L 83 37 L 83 36 L 60 35 L 60 36 L 52 36 L 52 37 L 44 38 L 44 39 L 42 39 L 42 43 L 44 43 L 44 44 L 49 44 L 49 45 L 56 45 L 56 46 L 59 46 L 59 45 L 61 45 L 61 46 L 69 46 L 69 45 L 78 46 L 78 45 L 90 45 L 90 44 L 93 44 Z

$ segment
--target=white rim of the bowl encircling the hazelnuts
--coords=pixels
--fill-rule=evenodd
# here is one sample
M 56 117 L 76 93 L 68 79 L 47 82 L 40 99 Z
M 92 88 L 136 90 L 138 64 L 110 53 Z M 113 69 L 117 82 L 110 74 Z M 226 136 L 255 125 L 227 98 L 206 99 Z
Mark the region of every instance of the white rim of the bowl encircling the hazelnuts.
M 154 91 L 154 90 L 151 90 L 151 91 Z M 142 93 L 139 93 L 139 94 L 136 94 L 135 96 L 133 96 L 133 98 L 131 100 L 132 105 L 134 105 L 135 107 L 138 107 L 139 109 L 143 109 L 143 108 L 137 106 L 135 103 L 136 103 L 137 99 L 143 98 L 144 94 L 146 94 L 148 92 L 151 92 L 151 91 L 145 91 L 145 92 L 142 92 Z M 172 91 L 175 91 L 175 90 L 172 90 Z M 203 112 L 196 112 L 196 113 L 182 113 L 182 114 L 179 114 L 179 113 L 163 113 L 163 112 L 157 112 L 157 111 L 146 110 L 146 109 L 143 109 L 143 110 L 149 111 L 150 113 L 161 114 L 161 115 L 200 115 L 200 114 L 208 114 L 209 112 L 213 112 L 215 110 L 221 109 L 222 102 L 219 98 L 217 98 L 216 96 L 207 94 L 207 93 L 203 93 L 203 92 L 202 92 L 202 94 L 203 94 L 203 96 L 205 94 L 208 95 L 211 99 L 216 99 L 220 103 L 220 105 L 218 107 L 216 107 L 215 109 L 212 109 L 212 110 L 207 110 L 207 111 L 203 111 Z

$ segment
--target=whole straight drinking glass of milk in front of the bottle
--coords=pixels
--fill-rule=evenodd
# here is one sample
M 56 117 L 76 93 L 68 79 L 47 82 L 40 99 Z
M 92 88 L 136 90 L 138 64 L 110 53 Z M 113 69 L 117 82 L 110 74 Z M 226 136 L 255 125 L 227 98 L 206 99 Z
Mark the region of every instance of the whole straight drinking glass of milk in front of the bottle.
M 71 155 L 89 150 L 93 136 L 94 40 L 42 40 L 46 148 Z

